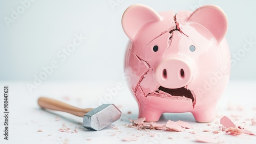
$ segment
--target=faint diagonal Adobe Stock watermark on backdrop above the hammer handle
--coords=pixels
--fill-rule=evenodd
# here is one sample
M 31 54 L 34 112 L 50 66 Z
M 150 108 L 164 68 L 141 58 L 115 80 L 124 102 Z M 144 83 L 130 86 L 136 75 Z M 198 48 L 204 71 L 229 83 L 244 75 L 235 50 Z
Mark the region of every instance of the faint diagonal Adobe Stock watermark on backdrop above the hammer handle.
M 78 48 L 84 40 L 86 40 L 87 37 L 83 37 L 80 33 L 75 34 L 75 38 L 73 39 L 73 42 L 70 43 L 66 48 L 62 48 L 57 52 L 57 60 L 52 60 L 49 66 L 42 66 L 42 71 L 39 74 L 34 74 L 34 80 L 33 83 L 27 83 L 27 88 L 30 93 L 32 93 L 33 89 L 37 89 L 44 80 L 48 78 L 49 75 L 51 75 L 54 71 L 54 69 L 57 69 L 59 67 L 58 61 L 65 61 L 68 56 L 70 56 L 76 48 Z

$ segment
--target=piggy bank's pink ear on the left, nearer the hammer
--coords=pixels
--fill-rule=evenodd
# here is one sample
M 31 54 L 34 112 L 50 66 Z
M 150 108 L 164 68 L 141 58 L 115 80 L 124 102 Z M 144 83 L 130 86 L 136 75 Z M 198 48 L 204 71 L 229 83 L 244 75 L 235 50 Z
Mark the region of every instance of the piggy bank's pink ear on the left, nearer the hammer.
M 133 42 L 136 33 L 143 25 L 150 22 L 156 22 L 160 19 L 160 15 L 150 7 L 144 5 L 132 5 L 123 13 L 123 31 Z

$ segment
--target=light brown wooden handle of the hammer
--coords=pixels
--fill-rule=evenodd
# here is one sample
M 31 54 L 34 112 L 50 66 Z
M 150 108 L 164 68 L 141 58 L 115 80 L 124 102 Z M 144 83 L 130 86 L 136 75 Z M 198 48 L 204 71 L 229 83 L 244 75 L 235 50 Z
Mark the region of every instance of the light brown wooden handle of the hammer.
M 83 117 L 84 114 L 93 110 L 91 108 L 80 109 L 80 108 L 68 105 L 59 100 L 55 100 L 55 99 L 47 98 L 47 97 L 39 97 L 37 100 L 37 103 L 41 108 L 55 110 L 55 111 L 61 111 L 61 112 L 67 112 L 67 113 L 70 113 L 70 114 L 73 114 L 73 115 L 76 115 L 79 117 Z

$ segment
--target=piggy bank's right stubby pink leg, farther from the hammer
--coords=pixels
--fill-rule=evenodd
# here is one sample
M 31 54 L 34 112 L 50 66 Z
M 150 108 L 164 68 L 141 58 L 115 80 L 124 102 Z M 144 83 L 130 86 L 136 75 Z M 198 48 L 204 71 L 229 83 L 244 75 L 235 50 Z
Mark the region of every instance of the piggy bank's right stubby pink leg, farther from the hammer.
M 216 118 L 216 106 L 205 105 L 192 112 L 197 122 L 211 122 Z

